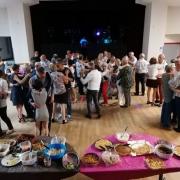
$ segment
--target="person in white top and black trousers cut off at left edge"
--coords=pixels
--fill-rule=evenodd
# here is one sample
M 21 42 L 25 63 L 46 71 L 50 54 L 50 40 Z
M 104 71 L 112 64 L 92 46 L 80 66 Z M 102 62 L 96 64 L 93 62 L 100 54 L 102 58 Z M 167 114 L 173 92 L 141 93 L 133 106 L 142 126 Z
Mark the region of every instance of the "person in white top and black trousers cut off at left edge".
M 11 120 L 7 116 L 7 96 L 8 96 L 8 83 L 3 78 L 3 71 L 0 70 L 0 118 L 6 123 L 8 130 L 6 134 L 11 134 L 14 132 Z M 0 137 L 3 135 L 0 123 Z

